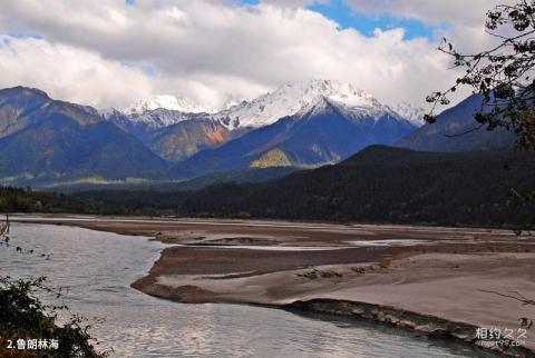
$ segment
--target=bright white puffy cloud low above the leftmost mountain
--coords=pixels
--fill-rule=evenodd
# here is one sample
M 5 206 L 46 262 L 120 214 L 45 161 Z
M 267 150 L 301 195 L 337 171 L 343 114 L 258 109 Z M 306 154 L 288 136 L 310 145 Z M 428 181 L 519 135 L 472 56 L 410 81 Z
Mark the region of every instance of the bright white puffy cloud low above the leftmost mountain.
M 37 87 L 57 99 L 99 107 L 132 102 L 154 90 L 139 69 L 32 38 L 0 36 L 0 87 Z

